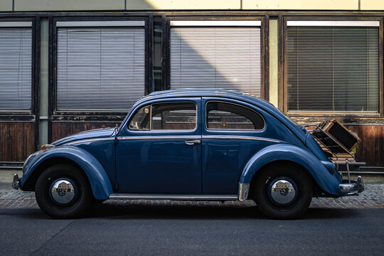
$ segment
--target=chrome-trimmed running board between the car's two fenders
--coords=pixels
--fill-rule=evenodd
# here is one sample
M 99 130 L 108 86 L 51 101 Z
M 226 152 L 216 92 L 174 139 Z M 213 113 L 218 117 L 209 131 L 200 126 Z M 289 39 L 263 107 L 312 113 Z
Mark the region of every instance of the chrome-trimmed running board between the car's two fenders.
M 177 195 L 177 194 L 112 193 L 110 195 L 110 199 L 237 201 L 238 195 Z

